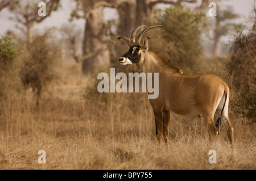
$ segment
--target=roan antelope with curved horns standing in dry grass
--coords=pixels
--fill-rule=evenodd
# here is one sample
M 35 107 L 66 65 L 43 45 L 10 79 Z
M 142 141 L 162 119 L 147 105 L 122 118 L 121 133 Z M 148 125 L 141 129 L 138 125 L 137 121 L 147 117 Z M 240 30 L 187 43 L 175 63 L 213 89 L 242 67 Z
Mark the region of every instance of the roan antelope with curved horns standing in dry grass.
M 228 121 L 229 126 L 226 132 L 234 148 L 234 129 L 228 115 L 228 85 L 213 74 L 185 75 L 182 70 L 169 65 L 158 54 L 148 51 L 149 37 L 144 38 L 143 45 L 140 44 L 144 33 L 159 26 L 162 25 L 144 28 L 136 39 L 136 32 L 145 26 L 135 28 L 131 38 L 118 37 L 129 46 L 129 51 L 119 58 L 121 65 L 136 64 L 144 73 L 159 73 L 159 96 L 156 99 L 150 99 L 159 146 L 162 146 L 162 138 L 164 138 L 168 148 L 171 111 L 185 116 L 203 114 L 210 142 L 216 139 L 221 122 Z M 216 121 L 214 121 L 214 113 L 220 116 Z

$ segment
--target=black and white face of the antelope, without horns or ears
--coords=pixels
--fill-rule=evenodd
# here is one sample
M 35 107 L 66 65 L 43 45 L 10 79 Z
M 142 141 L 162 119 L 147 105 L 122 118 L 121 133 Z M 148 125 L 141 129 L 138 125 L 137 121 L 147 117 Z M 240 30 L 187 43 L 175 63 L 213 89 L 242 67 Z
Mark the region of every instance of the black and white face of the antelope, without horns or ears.
M 138 64 L 141 60 L 141 49 L 139 46 L 130 47 L 122 57 L 119 58 L 121 65 Z

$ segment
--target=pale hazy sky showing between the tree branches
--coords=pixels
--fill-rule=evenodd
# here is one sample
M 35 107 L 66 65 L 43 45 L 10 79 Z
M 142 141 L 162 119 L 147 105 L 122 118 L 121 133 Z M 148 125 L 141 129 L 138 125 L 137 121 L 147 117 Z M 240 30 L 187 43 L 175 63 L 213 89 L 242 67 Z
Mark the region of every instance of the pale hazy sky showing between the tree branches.
M 1 0 L 0 0 L 1 1 Z M 26 1 L 26 0 L 25 0 Z M 40 1 L 39 1 L 40 2 Z M 47 27 L 60 27 L 64 23 L 68 23 L 71 10 L 74 7 L 74 3 L 68 0 L 62 0 L 62 7 L 59 11 L 53 12 L 51 17 L 44 20 L 42 23 L 35 26 L 36 29 L 44 30 Z M 249 15 L 249 12 L 253 9 L 253 0 L 226 0 L 222 2 L 213 1 L 217 3 L 218 7 L 225 7 L 230 5 L 234 7 L 234 12 L 241 15 L 241 18 L 237 22 L 244 22 L 244 18 Z M 209 8 L 210 9 L 210 8 Z M 10 12 L 2 10 L 0 12 L 0 35 L 5 35 L 7 30 L 15 30 L 15 22 L 9 19 Z M 105 18 L 116 18 L 118 15 L 111 9 L 105 9 Z M 75 20 L 77 27 L 84 29 L 84 20 Z

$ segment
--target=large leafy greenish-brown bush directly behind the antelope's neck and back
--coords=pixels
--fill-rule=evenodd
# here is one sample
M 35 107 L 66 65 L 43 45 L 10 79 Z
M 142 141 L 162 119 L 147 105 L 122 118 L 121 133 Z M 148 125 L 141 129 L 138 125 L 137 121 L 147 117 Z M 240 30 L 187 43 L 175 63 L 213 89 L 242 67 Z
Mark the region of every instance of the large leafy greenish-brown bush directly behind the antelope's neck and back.
M 204 12 L 184 10 L 172 6 L 160 10 L 156 22 L 163 27 L 148 32 L 150 49 L 171 65 L 193 73 L 194 66 L 203 54 L 201 34 L 208 30 L 208 19 Z

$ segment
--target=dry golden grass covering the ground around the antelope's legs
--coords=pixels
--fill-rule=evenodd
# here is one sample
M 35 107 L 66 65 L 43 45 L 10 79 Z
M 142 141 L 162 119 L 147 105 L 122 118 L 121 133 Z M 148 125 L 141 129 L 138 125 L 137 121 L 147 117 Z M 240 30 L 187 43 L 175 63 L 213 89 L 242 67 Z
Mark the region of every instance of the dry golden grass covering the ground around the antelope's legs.
M 170 149 L 156 147 L 155 123 L 146 95 L 84 98 L 91 79 L 78 65 L 62 67 L 35 111 L 32 93 L 11 96 L 0 108 L 0 169 L 256 169 L 255 125 L 232 116 L 236 150 L 224 127 L 208 144 L 201 119 L 171 115 Z M 93 90 L 93 89 L 91 89 Z M 46 151 L 46 164 L 38 151 Z M 208 162 L 209 150 L 217 163 Z

